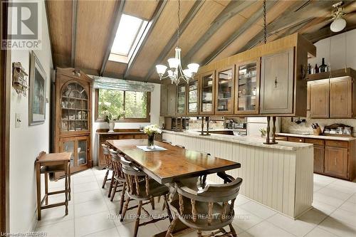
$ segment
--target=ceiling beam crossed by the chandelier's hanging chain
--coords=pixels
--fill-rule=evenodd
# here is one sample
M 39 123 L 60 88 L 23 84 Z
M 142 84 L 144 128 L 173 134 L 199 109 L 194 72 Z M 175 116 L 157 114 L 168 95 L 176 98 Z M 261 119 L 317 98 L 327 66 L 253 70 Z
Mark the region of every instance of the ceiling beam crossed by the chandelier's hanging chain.
M 192 6 L 192 9 L 189 10 L 187 16 L 184 18 L 184 20 L 182 21 L 182 23 L 179 25 L 179 31 L 182 34 L 185 29 L 187 28 L 187 26 L 189 26 L 189 23 L 192 21 L 192 19 L 194 18 L 194 16 L 198 13 L 199 9 L 201 8 L 201 6 L 203 6 L 204 1 L 203 0 L 198 0 L 194 3 L 194 5 Z M 174 43 L 177 43 L 177 36 L 174 33 L 174 35 L 169 39 L 168 43 L 166 46 L 164 46 L 163 50 L 161 53 L 159 53 L 159 56 L 157 58 L 157 60 L 155 60 L 155 63 L 153 64 L 152 68 L 149 70 L 149 72 L 147 73 L 147 75 L 145 76 L 145 81 L 147 81 L 148 79 L 150 79 L 150 77 L 152 76 L 152 74 L 155 72 L 155 65 L 159 64 L 162 62 L 162 60 L 164 60 L 164 58 L 167 57 L 169 51 L 171 51 L 172 47 L 174 46 Z

